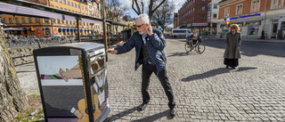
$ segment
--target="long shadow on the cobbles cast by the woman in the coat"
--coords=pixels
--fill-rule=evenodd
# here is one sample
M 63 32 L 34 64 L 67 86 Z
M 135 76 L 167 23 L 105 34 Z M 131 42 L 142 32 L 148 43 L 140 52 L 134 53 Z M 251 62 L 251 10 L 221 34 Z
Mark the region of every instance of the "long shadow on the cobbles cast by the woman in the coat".
M 256 68 L 240 67 L 240 68 L 237 68 L 235 71 L 244 71 L 244 70 L 248 70 L 248 69 L 256 69 Z M 219 74 L 228 73 L 228 72 L 230 72 L 230 70 L 234 70 L 234 69 L 225 69 L 225 68 L 212 69 L 212 70 L 209 70 L 209 71 L 201 73 L 201 74 L 192 75 L 190 77 L 185 77 L 185 78 L 181 79 L 181 81 L 188 82 L 188 81 L 196 80 L 196 79 L 214 77 L 214 76 L 219 75 Z

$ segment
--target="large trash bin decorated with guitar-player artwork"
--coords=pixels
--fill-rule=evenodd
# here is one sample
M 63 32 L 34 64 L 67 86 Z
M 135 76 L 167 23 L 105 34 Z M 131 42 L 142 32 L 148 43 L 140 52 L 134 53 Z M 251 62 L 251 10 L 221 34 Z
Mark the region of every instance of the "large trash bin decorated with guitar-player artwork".
M 34 51 L 45 122 L 102 122 L 110 113 L 104 45 L 76 43 Z

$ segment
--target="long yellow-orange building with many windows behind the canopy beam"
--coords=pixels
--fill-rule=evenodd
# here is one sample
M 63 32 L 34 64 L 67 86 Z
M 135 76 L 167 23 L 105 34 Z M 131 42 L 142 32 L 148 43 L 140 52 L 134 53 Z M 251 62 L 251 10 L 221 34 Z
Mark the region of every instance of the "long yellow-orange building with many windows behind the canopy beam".
M 88 5 L 88 2 L 85 3 L 78 0 L 39 0 L 37 4 L 50 4 L 50 7 L 56 9 L 90 15 L 90 5 Z M 98 11 L 98 9 L 94 10 Z M 94 15 L 99 17 L 99 14 Z M 81 32 L 81 35 L 89 35 L 92 33 L 92 30 L 100 29 L 99 24 L 92 24 L 91 26 L 90 23 L 79 21 L 79 30 L 77 30 L 77 22 L 73 20 L 42 19 L 8 14 L 1 15 L 1 19 L 4 20 L 7 27 L 22 28 L 23 30 L 21 31 L 6 31 L 8 34 L 20 36 L 46 37 L 52 34 L 59 34 L 74 37 L 78 31 Z

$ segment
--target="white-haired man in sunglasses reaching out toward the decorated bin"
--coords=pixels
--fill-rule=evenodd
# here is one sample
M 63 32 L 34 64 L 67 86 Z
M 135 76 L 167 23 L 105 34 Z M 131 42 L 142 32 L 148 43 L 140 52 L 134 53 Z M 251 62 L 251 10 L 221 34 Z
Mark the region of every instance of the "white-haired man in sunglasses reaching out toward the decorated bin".
M 154 73 L 159 77 L 159 81 L 164 88 L 168 98 L 168 107 L 170 115 L 175 116 L 175 101 L 171 85 L 167 77 L 167 56 L 164 52 L 166 40 L 158 28 L 152 28 L 149 16 L 147 14 L 139 15 L 135 20 L 137 31 L 126 41 L 124 45 L 117 48 L 108 49 L 107 52 L 112 54 L 121 54 L 131 51 L 135 47 L 135 64 L 134 69 L 142 65 L 142 104 L 138 111 L 144 110 L 150 102 L 148 92 L 151 74 Z

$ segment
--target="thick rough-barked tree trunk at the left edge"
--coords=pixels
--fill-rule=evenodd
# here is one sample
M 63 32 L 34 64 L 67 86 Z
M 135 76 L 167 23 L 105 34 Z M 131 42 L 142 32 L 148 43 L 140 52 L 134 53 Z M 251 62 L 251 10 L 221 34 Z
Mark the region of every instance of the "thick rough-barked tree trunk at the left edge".
M 20 87 L 11 55 L 0 30 L 0 122 L 12 120 L 27 107 L 27 94 Z

